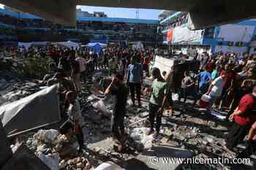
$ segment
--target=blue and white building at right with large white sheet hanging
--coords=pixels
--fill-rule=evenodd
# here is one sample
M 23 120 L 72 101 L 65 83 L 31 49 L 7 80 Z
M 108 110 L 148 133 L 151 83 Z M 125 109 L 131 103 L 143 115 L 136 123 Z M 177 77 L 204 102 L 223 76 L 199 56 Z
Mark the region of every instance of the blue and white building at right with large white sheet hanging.
M 191 48 L 199 53 L 255 53 L 255 19 L 191 31 L 187 27 L 188 18 L 187 12 L 174 12 L 159 20 L 163 43 L 173 45 L 183 53 Z

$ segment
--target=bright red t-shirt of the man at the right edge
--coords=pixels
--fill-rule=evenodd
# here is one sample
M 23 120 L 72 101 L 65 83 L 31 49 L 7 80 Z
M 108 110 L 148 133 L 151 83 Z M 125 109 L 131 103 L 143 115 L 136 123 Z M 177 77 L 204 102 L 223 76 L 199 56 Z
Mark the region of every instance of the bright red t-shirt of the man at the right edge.
M 255 116 L 252 115 L 252 109 L 255 108 L 256 104 L 253 100 L 252 96 L 249 94 L 246 94 L 244 97 L 241 98 L 238 110 L 240 110 L 242 115 L 235 115 L 234 120 L 238 125 L 252 125 L 255 121 Z

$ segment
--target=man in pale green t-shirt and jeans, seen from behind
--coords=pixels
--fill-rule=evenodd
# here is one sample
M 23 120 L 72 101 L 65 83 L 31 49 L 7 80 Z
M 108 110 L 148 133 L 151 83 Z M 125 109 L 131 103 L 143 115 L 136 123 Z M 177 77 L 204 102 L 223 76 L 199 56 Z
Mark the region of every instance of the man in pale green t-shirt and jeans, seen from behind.
M 162 113 L 165 108 L 167 101 L 167 82 L 162 78 L 160 70 L 154 68 L 152 70 L 152 76 L 154 78 L 151 97 L 149 100 L 149 120 L 150 120 L 150 131 L 148 134 L 153 134 L 157 136 L 160 131 L 160 126 L 162 123 Z M 157 117 L 156 131 L 154 132 L 154 119 Z

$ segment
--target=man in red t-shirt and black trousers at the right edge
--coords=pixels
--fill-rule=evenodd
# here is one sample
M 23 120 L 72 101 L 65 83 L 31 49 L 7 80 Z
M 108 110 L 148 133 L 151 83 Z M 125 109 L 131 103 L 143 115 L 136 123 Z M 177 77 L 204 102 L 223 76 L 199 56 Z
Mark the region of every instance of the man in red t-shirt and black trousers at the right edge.
M 256 120 L 256 86 L 251 94 L 241 98 L 235 112 L 230 115 L 230 121 L 234 120 L 233 127 L 227 137 L 227 148 L 233 150 L 237 144 L 244 140 L 249 128 Z

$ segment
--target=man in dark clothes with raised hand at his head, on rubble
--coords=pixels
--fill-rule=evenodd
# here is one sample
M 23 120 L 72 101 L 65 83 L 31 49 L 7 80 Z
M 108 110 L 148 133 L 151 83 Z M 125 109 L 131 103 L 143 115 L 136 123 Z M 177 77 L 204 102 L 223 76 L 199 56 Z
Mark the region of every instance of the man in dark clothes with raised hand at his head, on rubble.
M 129 93 L 129 89 L 123 81 L 124 75 L 116 73 L 112 82 L 105 90 L 105 94 L 110 93 L 115 96 L 112 116 L 112 134 L 119 142 L 124 136 L 124 116 L 126 114 L 127 96 Z

